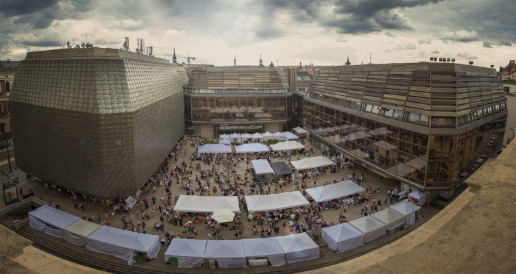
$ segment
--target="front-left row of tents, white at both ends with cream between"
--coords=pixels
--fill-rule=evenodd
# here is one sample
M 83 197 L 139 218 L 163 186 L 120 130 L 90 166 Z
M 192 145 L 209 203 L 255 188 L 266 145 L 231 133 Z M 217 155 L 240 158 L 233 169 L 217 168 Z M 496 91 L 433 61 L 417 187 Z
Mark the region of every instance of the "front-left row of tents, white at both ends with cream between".
M 136 252 L 153 259 L 160 251 L 157 235 L 98 225 L 46 205 L 29 212 L 29 225 L 74 245 L 121 258 L 127 264 L 132 264 Z

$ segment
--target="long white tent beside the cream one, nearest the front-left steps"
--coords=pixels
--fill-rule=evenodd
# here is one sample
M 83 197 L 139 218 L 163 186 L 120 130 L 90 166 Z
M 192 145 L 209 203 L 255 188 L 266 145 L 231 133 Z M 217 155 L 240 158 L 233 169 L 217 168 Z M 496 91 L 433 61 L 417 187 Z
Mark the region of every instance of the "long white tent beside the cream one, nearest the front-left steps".
M 132 264 L 136 252 L 147 253 L 151 259 L 160 251 L 158 235 L 130 232 L 103 225 L 88 236 L 86 249 L 115 256 Z

